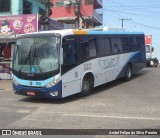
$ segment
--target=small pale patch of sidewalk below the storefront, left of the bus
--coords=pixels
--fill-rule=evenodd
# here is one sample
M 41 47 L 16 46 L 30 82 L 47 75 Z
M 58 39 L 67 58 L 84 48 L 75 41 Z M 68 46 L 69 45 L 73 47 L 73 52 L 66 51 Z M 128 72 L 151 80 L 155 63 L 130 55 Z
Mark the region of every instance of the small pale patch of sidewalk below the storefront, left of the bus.
M 0 90 L 12 90 L 12 80 L 0 80 Z

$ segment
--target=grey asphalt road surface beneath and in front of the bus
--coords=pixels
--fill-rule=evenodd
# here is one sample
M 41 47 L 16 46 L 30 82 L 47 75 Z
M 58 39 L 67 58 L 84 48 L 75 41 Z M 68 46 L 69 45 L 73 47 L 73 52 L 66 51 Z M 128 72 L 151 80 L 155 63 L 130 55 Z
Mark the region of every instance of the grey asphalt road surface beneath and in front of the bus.
M 160 68 L 145 68 L 87 97 L 42 99 L 0 90 L 0 129 L 160 129 L 159 106 Z

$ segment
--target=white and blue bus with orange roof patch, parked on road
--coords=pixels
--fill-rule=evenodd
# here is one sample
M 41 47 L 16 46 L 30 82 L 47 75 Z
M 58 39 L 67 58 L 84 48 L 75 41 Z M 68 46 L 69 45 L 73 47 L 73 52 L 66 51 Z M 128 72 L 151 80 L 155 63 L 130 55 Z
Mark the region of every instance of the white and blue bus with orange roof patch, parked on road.
M 145 67 L 144 34 L 56 30 L 21 35 L 13 54 L 16 94 L 64 98 L 88 95 L 96 86 Z

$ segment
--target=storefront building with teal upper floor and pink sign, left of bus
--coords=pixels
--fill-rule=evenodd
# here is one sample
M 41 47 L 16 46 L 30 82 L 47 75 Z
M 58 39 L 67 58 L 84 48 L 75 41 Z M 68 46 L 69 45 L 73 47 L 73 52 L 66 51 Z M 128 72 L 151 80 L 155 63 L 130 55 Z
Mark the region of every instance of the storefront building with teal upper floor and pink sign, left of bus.
M 38 14 L 45 5 L 37 0 L 0 0 L 0 79 L 11 79 L 16 35 L 38 31 Z

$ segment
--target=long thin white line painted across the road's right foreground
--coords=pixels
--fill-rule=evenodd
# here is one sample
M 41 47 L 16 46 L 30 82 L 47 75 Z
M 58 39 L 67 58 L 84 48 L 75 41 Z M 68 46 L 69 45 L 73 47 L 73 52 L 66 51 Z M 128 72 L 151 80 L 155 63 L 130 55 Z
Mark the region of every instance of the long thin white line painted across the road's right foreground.
M 155 120 L 160 121 L 160 118 L 150 117 L 132 117 L 132 116 L 107 116 L 107 115 L 86 115 L 86 114 L 63 114 L 64 116 L 77 116 L 77 117 L 97 117 L 97 118 L 114 118 L 114 119 L 137 119 L 137 120 Z

